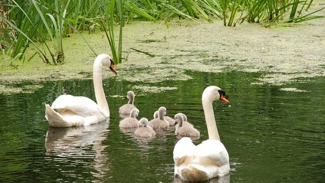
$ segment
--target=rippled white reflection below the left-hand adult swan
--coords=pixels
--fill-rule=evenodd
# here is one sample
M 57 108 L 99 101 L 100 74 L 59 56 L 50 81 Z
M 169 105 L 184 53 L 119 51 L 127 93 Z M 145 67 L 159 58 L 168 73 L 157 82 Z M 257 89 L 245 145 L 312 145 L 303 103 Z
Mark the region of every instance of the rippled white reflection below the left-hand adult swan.
M 103 145 L 107 138 L 109 119 L 98 124 L 70 128 L 50 127 L 46 133 L 45 147 L 46 159 L 59 162 L 74 162 L 89 165 L 96 172 L 91 171 L 95 177 L 103 177 L 109 167 L 109 158 Z

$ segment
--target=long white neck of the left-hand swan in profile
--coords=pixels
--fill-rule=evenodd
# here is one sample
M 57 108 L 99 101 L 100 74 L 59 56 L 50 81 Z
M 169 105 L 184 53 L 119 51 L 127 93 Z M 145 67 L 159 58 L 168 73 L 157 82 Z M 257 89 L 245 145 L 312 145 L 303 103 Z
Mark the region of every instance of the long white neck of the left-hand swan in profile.
M 107 112 L 110 115 L 110 110 L 108 107 L 108 103 L 105 97 L 103 81 L 102 81 L 102 69 L 103 69 L 103 57 L 97 57 L 93 64 L 92 70 L 92 79 L 93 79 L 93 87 L 95 90 L 95 97 L 98 106 Z

